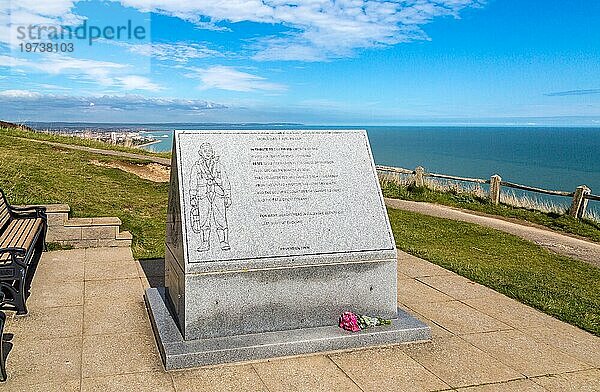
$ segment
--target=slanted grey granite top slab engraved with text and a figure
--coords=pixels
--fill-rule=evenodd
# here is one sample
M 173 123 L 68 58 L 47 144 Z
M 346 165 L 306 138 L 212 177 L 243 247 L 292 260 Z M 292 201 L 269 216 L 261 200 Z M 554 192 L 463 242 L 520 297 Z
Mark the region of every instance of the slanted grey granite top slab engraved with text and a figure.
M 175 131 L 167 246 L 186 273 L 394 257 L 364 130 Z

